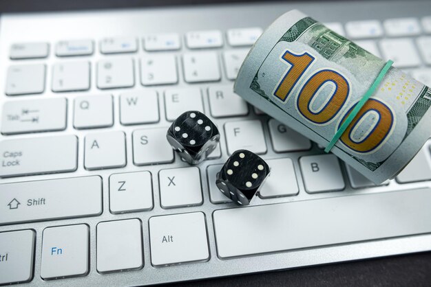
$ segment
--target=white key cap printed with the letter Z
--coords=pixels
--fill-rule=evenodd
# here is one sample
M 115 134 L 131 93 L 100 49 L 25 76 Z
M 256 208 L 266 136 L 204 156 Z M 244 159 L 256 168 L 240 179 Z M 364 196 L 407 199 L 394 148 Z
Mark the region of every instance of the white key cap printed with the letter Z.
M 114 214 L 153 208 L 150 172 L 128 172 L 109 176 L 109 209 Z

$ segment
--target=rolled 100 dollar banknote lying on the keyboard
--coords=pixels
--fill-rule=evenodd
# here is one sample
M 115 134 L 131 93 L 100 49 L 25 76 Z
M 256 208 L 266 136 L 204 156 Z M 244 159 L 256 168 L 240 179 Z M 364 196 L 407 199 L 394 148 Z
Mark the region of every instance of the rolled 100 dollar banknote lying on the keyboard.
M 430 88 L 297 10 L 260 36 L 234 91 L 375 183 L 394 178 L 431 133 Z

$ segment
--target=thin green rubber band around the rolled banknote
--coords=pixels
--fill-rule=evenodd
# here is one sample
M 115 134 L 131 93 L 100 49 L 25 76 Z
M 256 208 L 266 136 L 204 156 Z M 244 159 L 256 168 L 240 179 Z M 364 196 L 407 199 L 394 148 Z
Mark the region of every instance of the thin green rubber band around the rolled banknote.
M 392 60 L 388 60 L 388 62 L 386 62 L 385 67 L 383 67 L 383 69 L 381 69 L 379 76 L 377 76 L 377 78 L 374 80 L 374 82 L 370 86 L 370 89 L 368 89 L 368 91 L 366 91 L 366 93 L 361 98 L 361 100 L 356 104 L 355 108 L 353 108 L 353 111 L 351 111 L 349 113 L 349 115 L 346 118 L 346 120 L 344 121 L 344 123 L 341 124 L 341 126 L 337 130 L 337 133 L 335 133 L 334 137 L 330 140 L 330 142 L 328 143 L 328 146 L 326 146 L 326 148 L 325 148 L 325 152 L 330 152 L 330 150 L 333 148 L 333 146 L 335 146 L 335 143 L 337 143 L 337 141 L 339 140 L 341 135 L 343 135 L 343 133 L 346 130 L 346 128 L 348 127 L 348 125 L 353 121 L 353 119 L 355 119 L 357 113 L 359 113 L 362 106 L 364 106 L 364 104 L 368 101 L 368 99 L 371 97 L 371 95 L 375 92 L 377 87 L 379 87 L 381 80 L 383 80 L 383 77 L 386 75 L 390 66 L 392 66 L 393 63 L 394 62 L 392 62 Z

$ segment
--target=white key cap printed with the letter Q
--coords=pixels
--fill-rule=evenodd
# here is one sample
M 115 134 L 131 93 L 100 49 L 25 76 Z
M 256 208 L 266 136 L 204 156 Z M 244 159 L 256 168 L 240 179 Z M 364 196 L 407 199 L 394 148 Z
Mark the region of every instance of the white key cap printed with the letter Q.
M 114 124 L 112 95 L 83 95 L 74 100 L 75 128 L 105 128 Z

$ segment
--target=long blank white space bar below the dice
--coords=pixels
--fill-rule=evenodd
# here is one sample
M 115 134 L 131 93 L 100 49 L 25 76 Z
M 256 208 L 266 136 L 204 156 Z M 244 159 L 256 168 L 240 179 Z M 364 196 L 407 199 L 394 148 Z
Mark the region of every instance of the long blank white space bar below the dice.
M 431 232 L 431 190 L 340 196 L 216 210 L 219 257 Z

